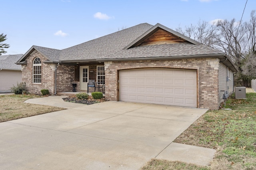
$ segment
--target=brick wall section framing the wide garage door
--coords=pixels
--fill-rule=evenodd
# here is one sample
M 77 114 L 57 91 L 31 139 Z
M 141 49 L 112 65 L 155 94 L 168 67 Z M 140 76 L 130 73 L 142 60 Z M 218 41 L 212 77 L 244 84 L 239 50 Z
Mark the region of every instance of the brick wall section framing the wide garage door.
M 181 68 L 197 70 L 197 107 L 219 109 L 218 106 L 218 58 L 180 59 L 158 61 L 110 61 L 105 62 L 106 100 L 118 101 L 119 70 L 134 68 Z

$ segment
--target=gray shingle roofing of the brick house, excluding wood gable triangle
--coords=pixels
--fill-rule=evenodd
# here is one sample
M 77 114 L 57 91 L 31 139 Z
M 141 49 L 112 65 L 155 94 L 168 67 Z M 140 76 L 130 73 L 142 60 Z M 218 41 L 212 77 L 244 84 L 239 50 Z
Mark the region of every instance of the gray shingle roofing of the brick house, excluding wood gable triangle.
M 166 31 L 176 33 L 175 31 L 164 27 L 161 24 L 150 25 L 141 23 L 133 27 L 105 35 L 103 37 L 87 41 L 63 50 L 50 49 L 46 47 L 32 46 L 30 50 L 18 61 L 22 62 L 30 53 L 36 49 L 44 55 L 50 62 L 76 62 L 90 60 L 108 60 L 108 59 L 131 59 L 148 57 L 177 57 L 177 56 L 195 56 L 221 54 L 221 51 L 197 43 L 196 41 L 178 34 L 190 43 L 148 45 L 132 47 L 134 42 L 149 35 L 151 31 L 161 27 Z M 127 49 L 127 47 L 130 47 Z

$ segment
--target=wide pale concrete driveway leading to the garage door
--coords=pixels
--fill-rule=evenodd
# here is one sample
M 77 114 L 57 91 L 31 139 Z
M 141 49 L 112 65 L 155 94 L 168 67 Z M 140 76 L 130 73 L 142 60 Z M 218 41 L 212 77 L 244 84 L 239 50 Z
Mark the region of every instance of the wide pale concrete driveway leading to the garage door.
M 112 101 L 79 106 L 0 123 L 0 168 L 139 169 L 151 158 L 176 159 L 175 149 L 191 150 L 172 141 L 207 111 Z M 214 150 L 196 147 L 202 153 L 191 160 L 207 164 L 209 151 L 211 160 Z

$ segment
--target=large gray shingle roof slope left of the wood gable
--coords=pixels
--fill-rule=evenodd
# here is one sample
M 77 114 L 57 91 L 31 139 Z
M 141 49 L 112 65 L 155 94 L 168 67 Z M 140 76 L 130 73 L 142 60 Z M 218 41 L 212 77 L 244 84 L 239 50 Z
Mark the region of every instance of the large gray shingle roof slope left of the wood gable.
M 107 55 L 122 50 L 129 43 L 134 41 L 134 39 L 148 31 L 151 27 L 153 27 L 153 25 L 142 23 L 67 49 L 63 49 L 59 59 L 102 59 Z

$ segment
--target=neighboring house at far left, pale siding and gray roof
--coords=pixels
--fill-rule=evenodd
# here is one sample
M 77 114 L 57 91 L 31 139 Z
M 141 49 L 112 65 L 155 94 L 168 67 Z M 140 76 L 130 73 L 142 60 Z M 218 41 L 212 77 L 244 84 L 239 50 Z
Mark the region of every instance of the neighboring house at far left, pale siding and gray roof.
M 22 81 L 21 66 L 15 64 L 22 56 L 0 55 L 0 93 L 11 92 L 10 88 Z

